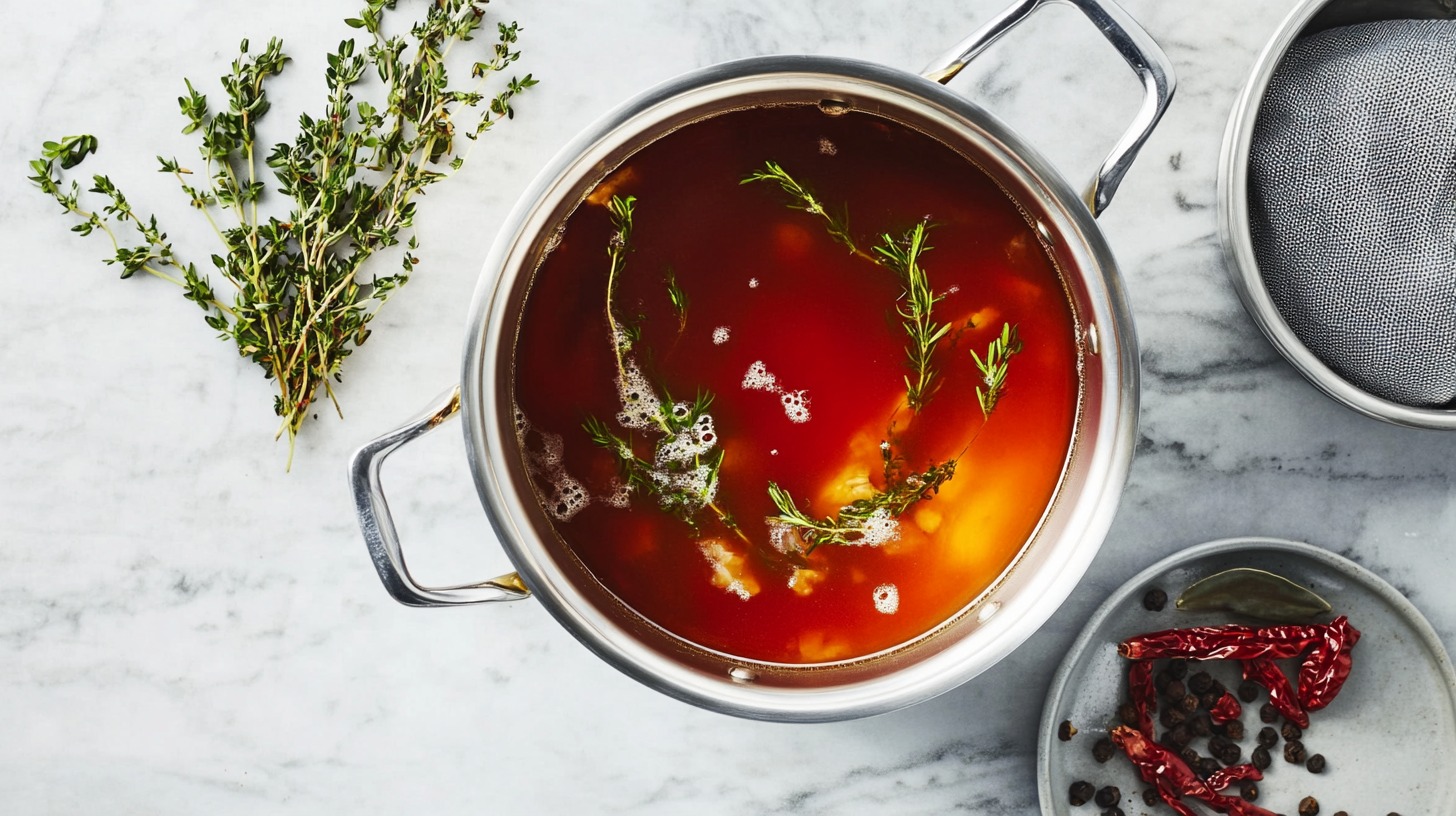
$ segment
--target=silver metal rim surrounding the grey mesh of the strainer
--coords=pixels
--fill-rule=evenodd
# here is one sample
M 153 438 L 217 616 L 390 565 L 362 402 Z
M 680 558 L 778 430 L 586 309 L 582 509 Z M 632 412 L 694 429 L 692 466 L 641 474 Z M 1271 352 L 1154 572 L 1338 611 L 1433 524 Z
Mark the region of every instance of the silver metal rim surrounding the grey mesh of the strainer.
M 1296 6 L 1264 47 L 1249 79 L 1233 102 L 1219 157 L 1219 233 L 1229 277 L 1239 300 L 1264 337 L 1319 391 L 1367 417 L 1417 428 L 1456 430 L 1456 409 L 1415 408 L 1382 399 L 1341 377 L 1315 356 L 1284 322 L 1264 287 L 1249 232 L 1249 150 L 1264 92 L 1294 41 L 1325 29 L 1392 19 L 1452 19 L 1452 0 L 1305 0 Z

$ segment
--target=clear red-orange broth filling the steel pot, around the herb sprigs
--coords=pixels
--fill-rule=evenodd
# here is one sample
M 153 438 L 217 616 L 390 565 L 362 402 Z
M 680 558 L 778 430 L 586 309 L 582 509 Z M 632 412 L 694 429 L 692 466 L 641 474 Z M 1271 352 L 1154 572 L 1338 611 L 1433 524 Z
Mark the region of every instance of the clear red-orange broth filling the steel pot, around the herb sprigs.
M 836 243 L 778 185 L 740 184 L 766 160 L 847 211 L 863 249 L 881 233 L 932 224 L 922 267 L 943 296 L 933 319 L 952 329 L 935 348 L 941 385 L 919 412 L 906 407 L 900 278 Z M 639 329 L 632 360 L 660 396 L 712 395 L 712 455 L 722 453 L 715 506 L 741 536 L 712 509 L 689 525 L 642 490 L 625 507 L 613 503 L 617 458 L 582 428 L 600 418 L 648 460 L 660 439 L 616 421 L 610 194 L 636 198 L 613 300 Z M 681 313 L 670 274 L 687 297 Z M 1024 348 L 987 420 L 970 351 L 984 356 L 1003 323 Z M 955 616 L 1025 546 L 1070 450 L 1075 328 L 1026 216 L 955 150 L 862 112 L 721 114 L 632 154 L 566 219 L 536 271 L 515 356 L 523 456 L 543 506 L 565 510 L 553 522 L 561 539 L 648 621 L 751 660 L 862 657 Z M 773 389 L 745 388 L 750 370 L 772 374 Z M 794 415 L 795 395 L 807 421 Z M 955 475 L 897 519 L 893 541 L 788 557 L 770 545 L 769 519 L 779 514 L 770 481 L 799 510 L 833 516 L 885 490 L 882 442 L 916 471 L 957 459 Z

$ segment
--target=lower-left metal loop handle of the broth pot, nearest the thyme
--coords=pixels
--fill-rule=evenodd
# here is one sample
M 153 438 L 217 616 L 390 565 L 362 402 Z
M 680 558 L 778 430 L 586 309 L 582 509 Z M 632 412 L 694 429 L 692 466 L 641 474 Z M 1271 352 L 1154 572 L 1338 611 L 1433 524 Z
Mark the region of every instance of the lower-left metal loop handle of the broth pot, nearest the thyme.
M 355 450 L 349 459 L 349 487 L 354 490 L 354 510 L 360 517 L 360 529 L 364 530 L 364 544 L 368 545 L 370 558 L 379 570 L 380 580 L 384 581 L 384 589 L 405 606 L 459 606 L 521 600 L 531 595 L 515 573 L 478 584 L 431 589 L 415 583 L 405 567 L 399 533 L 395 530 L 395 519 L 389 514 L 389 501 L 379 479 L 380 465 L 395 449 L 438 428 L 459 412 L 460 386 L 456 386 L 437 396 L 418 417 Z

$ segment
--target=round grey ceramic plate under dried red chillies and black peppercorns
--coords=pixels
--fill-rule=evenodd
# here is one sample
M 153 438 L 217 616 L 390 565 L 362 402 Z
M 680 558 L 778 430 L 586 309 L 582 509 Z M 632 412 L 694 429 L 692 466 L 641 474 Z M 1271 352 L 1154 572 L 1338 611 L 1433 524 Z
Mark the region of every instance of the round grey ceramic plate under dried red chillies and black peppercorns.
M 1107 764 L 1092 758 L 1092 745 L 1117 724 L 1117 707 L 1127 699 L 1127 660 L 1117 644 L 1127 637 L 1166 628 L 1217 624 L 1257 624 L 1229 612 L 1181 612 L 1174 599 L 1213 573 L 1232 567 L 1255 567 L 1284 576 L 1322 596 L 1335 615 L 1348 615 L 1361 632 L 1353 653 L 1353 669 L 1344 689 L 1329 707 L 1310 714 L 1303 734 L 1309 753 L 1322 753 L 1328 766 L 1312 774 L 1284 761 L 1284 740 L 1271 750 L 1273 765 L 1258 782 L 1259 807 L 1293 815 L 1306 796 L 1319 800 L 1319 812 L 1347 810 L 1354 815 L 1401 813 L 1424 816 L 1456 813 L 1456 673 L 1440 638 L 1425 618 L 1390 584 L 1318 546 L 1278 539 L 1229 539 L 1204 544 L 1166 558 L 1130 580 L 1096 611 L 1072 651 L 1063 660 L 1047 695 L 1038 736 L 1038 794 L 1045 816 L 1095 816 L 1095 803 L 1073 807 L 1067 790 L 1085 780 L 1095 787 L 1117 785 L 1127 816 L 1166 816 L 1166 804 L 1143 804 L 1150 785 L 1117 752 Z M 1149 589 L 1168 593 L 1162 612 L 1143 608 Z M 1328 619 L 1322 618 L 1321 621 Z M 1294 662 L 1281 660 L 1287 675 Z M 1238 688 L 1238 664 L 1227 660 L 1190 663 Z M 1243 707 L 1246 737 L 1239 743 L 1243 761 L 1258 745 L 1254 736 L 1264 726 L 1258 707 L 1261 691 Z M 1069 720 L 1077 733 L 1063 742 L 1057 736 Z M 1277 727 L 1277 724 L 1275 724 Z M 1159 734 L 1163 731 L 1158 727 Z M 1204 740 L 1194 748 L 1207 755 Z M 1223 791 L 1238 796 L 1238 785 Z M 1200 813 L 1211 813 L 1192 803 Z

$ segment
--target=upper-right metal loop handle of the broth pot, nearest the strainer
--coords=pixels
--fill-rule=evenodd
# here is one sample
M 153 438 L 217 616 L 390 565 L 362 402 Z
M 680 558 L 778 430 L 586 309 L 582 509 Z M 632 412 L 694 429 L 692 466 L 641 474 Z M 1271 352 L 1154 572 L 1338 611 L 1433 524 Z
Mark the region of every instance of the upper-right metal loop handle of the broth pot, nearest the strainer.
M 1092 216 L 1101 216 L 1102 210 L 1107 210 L 1107 205 L 1112 203 L 1112 194 L 1117 192 L 1117 185 L 1123 182 L 1123 175 L 1127 173 L 1127 168 L 1137 157 L 1137 150 L 1147 141 L 1153 128 L 1158 127 L 1158 119 L 1163 117 L 1163 111 L 1168 109 L 1168 103 L 1174 98 L 1174 89 L 1178 86 L 1168 54 L 1163 54 L 1158 42 L 1114 0 L 1019 0 L 1010 9 L 1002 12 L 1000 16 L 981 26 L 980 31 L 971 34 L 938 57 L 920 74 L 942 85 L 949 82 L 977 54 L 990 47 L 992 42 L 996 42 L 1000 35 L 1015 28 L 1016 23 L 1031 16 L 1037 9 L 1050 6 L 1051 3 L 1070 3 L 1086 15 L 1098 31 L 1102 32 L 1102 36 L 1127 60 L 1127 64 L 1131 66 L 1133 71 L 1137 73 L 1137 79 L 1143 83 L 1143 105 L 1137 109 L 1137 115 L 1133 117 L 1133 124 L 1128 125 L 1127 133 L 1123 134 L 1123 138 L 1117 140 L 1112 152 L 1107 154 L 1102 168 L 1098 169 L 1096 178 L 1092 181 L 1092 188 L 1086 194 Z

